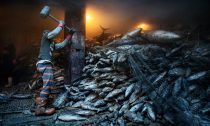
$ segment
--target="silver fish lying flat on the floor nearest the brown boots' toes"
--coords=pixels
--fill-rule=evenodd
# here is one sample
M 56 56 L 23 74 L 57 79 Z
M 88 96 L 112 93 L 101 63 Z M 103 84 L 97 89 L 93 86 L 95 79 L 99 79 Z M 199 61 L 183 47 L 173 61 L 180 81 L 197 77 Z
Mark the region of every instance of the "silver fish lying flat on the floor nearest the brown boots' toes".
M 63 113 L 58 116 L 58 119 L 61 121 L 82 121 L 87 120 L 87 118 L 81 117 L 79 115 L 71 114 L 71 113 Z

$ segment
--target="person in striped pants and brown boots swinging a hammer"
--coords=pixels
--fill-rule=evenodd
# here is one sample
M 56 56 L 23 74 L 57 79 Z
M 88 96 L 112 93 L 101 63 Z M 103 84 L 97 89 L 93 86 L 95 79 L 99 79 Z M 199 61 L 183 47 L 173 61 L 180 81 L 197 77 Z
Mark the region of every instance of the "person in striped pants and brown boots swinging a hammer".
M 63 42 L 54 43 L 53 38 L 64 29 L 64 25 L 64 21 L 60 21 L 59 25 L 54 30 L 45 30 L 42 35 L 38 62 L 36 63 L 37 70 L 41 73 L 43 80 L 40 95 L 35 99 L 35 115 L 37 116 L 52 115 L 55 113 L 55 108 L 47 108 L 50 90 L 54 86 L 52 52 L 69 45 L 72 35 L 74 34 L 74 30 L 70 30 Z

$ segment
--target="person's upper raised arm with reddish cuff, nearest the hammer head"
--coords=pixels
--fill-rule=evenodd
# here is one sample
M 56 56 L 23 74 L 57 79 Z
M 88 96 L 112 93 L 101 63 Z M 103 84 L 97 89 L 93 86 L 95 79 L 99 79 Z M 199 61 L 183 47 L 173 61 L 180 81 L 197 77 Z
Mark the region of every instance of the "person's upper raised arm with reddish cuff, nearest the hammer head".
M 47 34 L 47 38 L 52 39 L 55 36 L 57 36 L 63 30 L 64 25 L 65 25 L 64 21 L 60 21 L 59 25 L 54 30 L 52 30 Z

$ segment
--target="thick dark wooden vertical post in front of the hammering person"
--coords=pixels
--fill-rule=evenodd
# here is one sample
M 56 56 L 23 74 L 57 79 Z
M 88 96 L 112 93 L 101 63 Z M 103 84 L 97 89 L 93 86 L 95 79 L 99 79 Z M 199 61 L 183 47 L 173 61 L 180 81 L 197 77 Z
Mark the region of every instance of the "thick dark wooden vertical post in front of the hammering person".
M 65 23 L 75 28 L 76 33 L 68 48 L 68 84 L 81 77 L 85 62 L 85 0 L 71 4 L 71 7 L 65 12 Z

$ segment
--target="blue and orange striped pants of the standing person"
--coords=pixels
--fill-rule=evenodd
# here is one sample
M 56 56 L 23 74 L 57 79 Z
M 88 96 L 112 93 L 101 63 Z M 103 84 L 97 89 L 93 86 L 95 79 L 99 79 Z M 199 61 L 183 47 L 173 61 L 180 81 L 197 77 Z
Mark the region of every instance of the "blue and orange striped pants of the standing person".
M 53 69 L 51 63 L 39 63 L 37 70 L 42 73 L 43 87 L 40 92 L 40 97 L 46 98 L 50 94 L 51 88 L 54 86 Z

